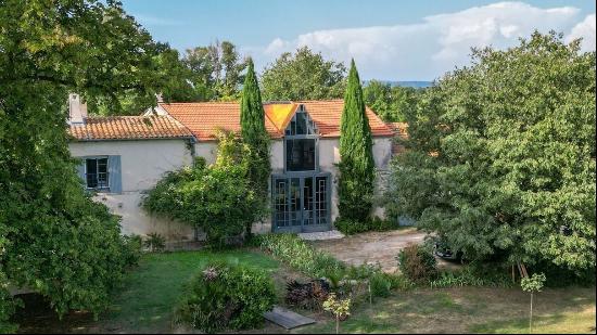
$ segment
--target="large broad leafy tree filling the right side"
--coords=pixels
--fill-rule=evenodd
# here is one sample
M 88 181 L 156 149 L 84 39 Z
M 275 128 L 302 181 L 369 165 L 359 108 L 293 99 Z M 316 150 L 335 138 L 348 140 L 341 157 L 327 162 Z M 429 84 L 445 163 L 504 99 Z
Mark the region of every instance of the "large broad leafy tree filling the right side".
M 595 52 L 535 33 L 473 50 L 407 115 L 391 216 L 467 259 L 595 271 Z

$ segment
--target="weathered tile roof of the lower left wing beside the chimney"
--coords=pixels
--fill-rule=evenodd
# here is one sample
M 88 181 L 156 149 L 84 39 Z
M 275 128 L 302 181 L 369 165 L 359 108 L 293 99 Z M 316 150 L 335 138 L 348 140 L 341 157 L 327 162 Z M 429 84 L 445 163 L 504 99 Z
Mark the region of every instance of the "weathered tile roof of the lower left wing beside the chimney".
M 84 125 L 71 125 L 78 141 L 191 138 L 192 133 L 170 116 L 88 117 Z

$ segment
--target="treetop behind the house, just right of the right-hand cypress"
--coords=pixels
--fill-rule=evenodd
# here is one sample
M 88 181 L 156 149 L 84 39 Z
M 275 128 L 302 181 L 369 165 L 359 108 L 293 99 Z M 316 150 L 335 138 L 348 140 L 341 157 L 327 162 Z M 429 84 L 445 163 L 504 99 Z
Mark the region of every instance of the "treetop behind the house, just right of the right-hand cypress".
M 417 102 L 424 89 L 392 87 L 379 80 L 371 80 L 363 88 L 365 104 L 385 123 L 404 121 L 405 115 L 417 108 Z

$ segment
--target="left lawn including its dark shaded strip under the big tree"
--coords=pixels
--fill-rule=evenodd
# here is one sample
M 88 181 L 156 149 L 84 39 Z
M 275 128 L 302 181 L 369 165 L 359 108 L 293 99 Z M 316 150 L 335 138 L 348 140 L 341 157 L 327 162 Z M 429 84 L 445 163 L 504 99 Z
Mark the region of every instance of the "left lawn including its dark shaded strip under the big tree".
M 183 294 L 183 285 L 211 260 L 244 263 L 270 272 L 284 281 L 280 263 L 246 249 L 229 252 L 180 252 L 145 254 L 132 269 L 124 288 L 114 294 L 110 309 L 93 321 L 90 314 L 73 312 L 59 321 L 41 311 L 21 323 L 23 333 L 172 333 L 173 309 Z M 277 285 L 283 287 L 283 285 Z

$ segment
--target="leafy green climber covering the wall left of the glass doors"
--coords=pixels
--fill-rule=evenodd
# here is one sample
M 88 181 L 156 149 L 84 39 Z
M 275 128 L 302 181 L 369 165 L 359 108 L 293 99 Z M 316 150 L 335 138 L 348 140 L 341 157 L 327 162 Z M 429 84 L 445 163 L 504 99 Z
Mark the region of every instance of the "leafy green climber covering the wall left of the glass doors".
M 203 229 L 216 247 L 231 244 L 265 210 L 247 180 L 252 154 L 234 133 L 218 134 L 216 163 L 168 172 L 148 192 L 142 207 Z

